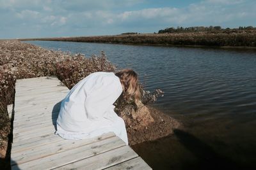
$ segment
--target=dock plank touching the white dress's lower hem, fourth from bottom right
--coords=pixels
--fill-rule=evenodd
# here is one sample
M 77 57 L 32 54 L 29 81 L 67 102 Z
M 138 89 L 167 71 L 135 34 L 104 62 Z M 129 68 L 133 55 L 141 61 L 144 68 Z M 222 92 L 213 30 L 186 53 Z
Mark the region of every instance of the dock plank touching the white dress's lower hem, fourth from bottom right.
M 40 159 L 42 156 L 47 157 L 60 152 L 65 152 L 67 150 L 72 150 L 77 147 L 84 145 L 90 145 L 92 143 L 97 143 L 98 141 L 106 140 L 108 138 L 116 138 L 113 132 L 103 134 L 102 136 L 97 136 L 91 139 L 83 140 L 60 140 L 54 143 L 46 143 L 42 146 L 34 146 L 33 148 L 24 149 L 19 152 L 12 153 L 11 164 L 22 164 L 24 162 L 29 162 L 31 160 Z

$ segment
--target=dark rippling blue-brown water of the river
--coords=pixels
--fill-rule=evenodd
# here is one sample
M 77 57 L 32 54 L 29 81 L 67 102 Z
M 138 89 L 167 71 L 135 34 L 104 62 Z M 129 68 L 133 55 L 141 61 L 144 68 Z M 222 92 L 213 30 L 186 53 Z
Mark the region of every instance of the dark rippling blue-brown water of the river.
M 100 55 L 162 89 L 155 107 L 184 128 L 134 150 L 153 169 L 256 169 L 256 50 L 28 41 Z

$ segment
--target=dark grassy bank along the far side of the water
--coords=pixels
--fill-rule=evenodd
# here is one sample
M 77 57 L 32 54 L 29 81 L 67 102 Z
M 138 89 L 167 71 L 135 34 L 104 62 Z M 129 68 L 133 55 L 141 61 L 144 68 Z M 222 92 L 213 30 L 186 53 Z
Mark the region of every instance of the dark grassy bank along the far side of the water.
M 20 40 L 76 41 L 163 46 L 246 46 L 256 47 L 256 30 L 226 32 L 175 32 L 163 34 L 121 34 L 116 36 L 84 36 L 65 38 L 30 38 Z

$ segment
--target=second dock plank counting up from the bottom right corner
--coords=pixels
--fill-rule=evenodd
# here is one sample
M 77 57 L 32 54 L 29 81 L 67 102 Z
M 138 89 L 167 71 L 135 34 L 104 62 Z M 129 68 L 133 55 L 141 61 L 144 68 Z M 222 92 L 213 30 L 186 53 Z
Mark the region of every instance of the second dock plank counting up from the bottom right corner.
M 56 169 L 104 169 L 135 157 L 138 157 L 136 152 L 129 146 L 123 146 Z

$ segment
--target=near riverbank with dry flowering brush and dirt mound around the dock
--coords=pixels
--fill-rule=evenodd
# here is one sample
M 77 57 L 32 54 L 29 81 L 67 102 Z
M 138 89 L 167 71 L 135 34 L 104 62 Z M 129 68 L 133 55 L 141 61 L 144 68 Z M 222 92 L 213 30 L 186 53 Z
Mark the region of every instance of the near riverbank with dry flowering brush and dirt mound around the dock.
M 17 79 L 57 76 L 68 89 L 71 89 L 79 80 L 96 71 L 116 71 L 116 67 L 106 59 L 104 53 L 101 56 L 94 55 L 86 58 L 81 54 L 71 55 L 60 51 L 45 50 L 15 40 L 0 41 L 0 116 L 2 121 L 0 148 L 3 153 L 1 157 L 3 159 L 5 157 L 4 161 L 8 160 L 8 157 L 10 161 L 9 153 L 6 154 L 8 143 L 12 143 L 11 140 L 8 141 L 12 139 L 12 132 L 7 106 L 14 101 Z M 147 93 L 144 94 L 143 99 L 150 100 L 147 95 Z M 168 136 L 180 125 L 175 119 L 153 108 L 150 109 L 148 106 L 136 110 L 132 104 L 125 104 L 125 106 L 130 108 L 131 112 L 136 113 L 132 114 L 132 117 L 123 109 L 118 111 L 118 115 L 122 115 L 125 120 L 130 145 Z M 143 115 L 143 117 L 136 115 Z

